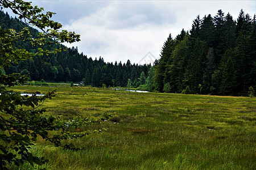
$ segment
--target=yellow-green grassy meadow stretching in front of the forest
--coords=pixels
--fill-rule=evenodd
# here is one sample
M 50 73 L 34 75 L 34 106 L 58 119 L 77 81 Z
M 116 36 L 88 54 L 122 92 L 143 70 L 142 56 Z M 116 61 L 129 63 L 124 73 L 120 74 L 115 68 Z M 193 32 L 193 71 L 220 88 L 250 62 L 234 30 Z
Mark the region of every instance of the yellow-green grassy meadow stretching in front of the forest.
M 65 141 L 86 150 L 63 150 L 38 138 L 34 154 L 49 159 L 46 169 L 256 169 L 256 98 L 67 86 L 12 89 L 57 90 L 43 107 L 65 120 L 114 115 L 76 129 L 108 131 Z

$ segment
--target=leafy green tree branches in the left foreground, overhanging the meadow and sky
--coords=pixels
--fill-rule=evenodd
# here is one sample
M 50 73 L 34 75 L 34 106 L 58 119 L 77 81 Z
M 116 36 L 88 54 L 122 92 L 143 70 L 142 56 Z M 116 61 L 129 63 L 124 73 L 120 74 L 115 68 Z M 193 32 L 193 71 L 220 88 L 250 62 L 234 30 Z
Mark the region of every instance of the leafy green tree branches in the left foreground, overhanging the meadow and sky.
M 44 96 L 38 96 L 39 92 L 34 92 L 31 96 L 22 96 L 20 92 L 7 90 L 7 87 L 23 84 L 26 75 L 19 73 L 6 75 L 5 71 L 2 71 L 4 67 L 10 67 L 36 56 L 56 54 L 62 49 L 44 50 L 40 46 L 60 42 L 71 43 L 79 41 L 80 36 L 67 30 L 60 31 L 62 25 L 50 20 L 55 13 L 44 14 L 43 8 L 33 7 L 30 2 L 1 0 L 0 5 L 1 9 L 10 8 L 14 14 L 19 16 L 19 19 L 23 19 L 27 24 L 34 25 L 42 31 L 37 37 L 33 37 L 27 27 L 20 31 L 0 27 L 0 169 L 9 169 L 9 166 L 14 164 L 20 166 L 25 162 L 31 165 L 41 165 L 46 163 L 46 160 L 31 152 L 33 142 L 39 136 L 55 146 L 75 149 L 72 144 L 64 145 L 62 142 L 91 133 L 101 133 L 104 129 L 88 130 L 82 133 L 70 133 L 69 129 L 99 123 L 106 117 L 59 120 L 52 115 L 47 116 L 44 114 L 46 110 L 39 108 L 46 99 L 51 99 L 56 91 L 49 91 Z M 17 48 L 14 44 L 19 40 L 29 42 L 31 46 L 38 48 L 34 52 Z M 60 133 L 51 135 L 49 131 L 60 131 Z

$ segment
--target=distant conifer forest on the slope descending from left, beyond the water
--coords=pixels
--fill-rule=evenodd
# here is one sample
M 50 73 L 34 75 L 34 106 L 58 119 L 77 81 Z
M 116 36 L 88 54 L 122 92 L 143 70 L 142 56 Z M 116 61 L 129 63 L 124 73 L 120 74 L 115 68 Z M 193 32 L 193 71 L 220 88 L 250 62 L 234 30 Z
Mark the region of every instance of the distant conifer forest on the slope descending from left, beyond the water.
M 27 24 L 10 17 L 3 11 L 0 11 L 0 26 L 0 31 L 8 28 L 21 31 L 22 28 L 28 27 Z M 32 36 L 38 36 L 39 32 L 36 29 L 28 28 Z M 15 46 L 29 52 L 38 49 L 38 46 L 31 46 L 25 41 L 18 41 Z M 53 50 L 55 48 L 65 48 L 65 46 L 61 44 L 44 45 L 43 49 Z M 131 64 L 129 60 L 126 63 L 106 63 L 101 57 L 93 60 L 83 53 L 79 53 L 77 48 L 68 48 L 57 54 L 37 57 L 30 61 L 22 61 L 18 65 L 6 67 L 5 73 L 28 74 L 30 80 L 44 79 L 47 82 L 83 81 L 85 86 L 94 87 L 102 87 L 102 84 L 105 84 L 106 87 L 126 87 L 130 79 L 131 85 L 137 87 L 140 85 L 138 82 L 140 82 L 139 78 L 142 72 L 147 76 L 150 67 L 151 65 Z

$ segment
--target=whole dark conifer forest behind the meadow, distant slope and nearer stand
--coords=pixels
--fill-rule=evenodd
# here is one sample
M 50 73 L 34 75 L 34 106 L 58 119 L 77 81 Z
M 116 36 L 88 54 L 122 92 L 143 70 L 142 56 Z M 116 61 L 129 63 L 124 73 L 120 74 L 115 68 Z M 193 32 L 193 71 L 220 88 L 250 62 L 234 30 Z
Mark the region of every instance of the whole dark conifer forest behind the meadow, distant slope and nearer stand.
M 129 87 L 140 90 L 183 94 L 246 96 L 256 88 L 256 23 L 255 15 L 243 10 L 237 19 L 218 10 L 215 16 L 196 16 L 189 31 L 167 37 L 160 59 L 154 64 L 138 65 L 93 59 L 77 48 L 57 54 L 20 61 L 6 67 L 6 74 L 29 75 L 29 80 L 46 82 L 83 82 L 84 86 Z M 28 27 L 17 18 L 0 12 L 2 29 L 20 31 Z M 29 27 L 32 36 L 39 31 Z M 19 48 L 35 51 L 38 46 L 17 41 Z M 44 45 L 44 49 L 66 48 L 61 44 Z

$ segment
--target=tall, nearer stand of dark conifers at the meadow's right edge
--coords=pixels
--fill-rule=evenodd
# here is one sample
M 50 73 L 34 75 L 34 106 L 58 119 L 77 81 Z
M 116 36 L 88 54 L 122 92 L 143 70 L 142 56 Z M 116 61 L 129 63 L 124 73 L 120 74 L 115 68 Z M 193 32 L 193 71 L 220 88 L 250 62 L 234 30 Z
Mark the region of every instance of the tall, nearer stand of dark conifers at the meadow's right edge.
M 256 81 L 256 23 L 240 11 L 237 20 L 218 10 L 200 16 L 164 42 L 155 66 L 155 89 L 160 92 L 246 95 Z

